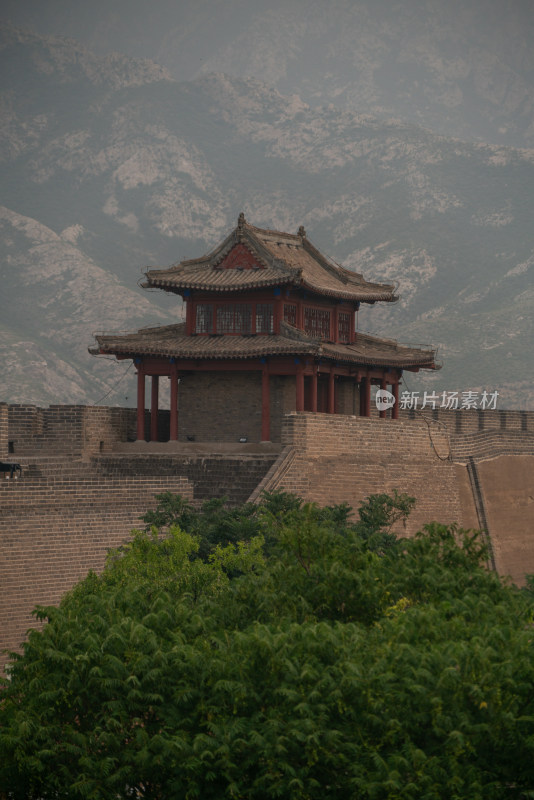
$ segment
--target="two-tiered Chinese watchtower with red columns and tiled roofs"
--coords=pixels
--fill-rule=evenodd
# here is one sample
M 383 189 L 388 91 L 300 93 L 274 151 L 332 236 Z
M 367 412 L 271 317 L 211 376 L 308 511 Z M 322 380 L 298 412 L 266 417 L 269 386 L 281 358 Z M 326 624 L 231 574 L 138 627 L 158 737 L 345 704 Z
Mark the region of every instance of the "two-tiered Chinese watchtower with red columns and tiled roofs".
M 432 349 L 356 330 L 360 304 L 393 302 L 395 287 L 338 266 L 303 227 L 264 230 L 240 214 L 208 255 L 145 275 L 144 288 L 183 298 L 185 323 L 98 335 L 90 350 L 133 360 L 138 439 L 157 439 L 161 378 L 170 381 L 170 440 L 280 441 L 292 411 L 370 416 L 372 384 L 392 393 L 397 418 L 403 370 L 439 368 Z

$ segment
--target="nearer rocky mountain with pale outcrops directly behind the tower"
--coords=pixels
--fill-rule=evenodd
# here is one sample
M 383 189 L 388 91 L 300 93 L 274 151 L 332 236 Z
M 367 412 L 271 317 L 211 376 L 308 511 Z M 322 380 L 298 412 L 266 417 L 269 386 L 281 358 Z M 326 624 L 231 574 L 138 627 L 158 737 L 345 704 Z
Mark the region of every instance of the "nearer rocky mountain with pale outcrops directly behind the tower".
M 360 326 L 438 345 L 445 367 L 425 386 L 532 407 L 534 151 L 310 107 L 253 79 L 179 82 L 11 27 L 0 68 L 5 399 L 97 400 L 126 365 L 91 358 L 91 333 L 178 313 L 137 290 L 141 268 L 206 252 L 244 210 L 398 280 L 401 302 Z

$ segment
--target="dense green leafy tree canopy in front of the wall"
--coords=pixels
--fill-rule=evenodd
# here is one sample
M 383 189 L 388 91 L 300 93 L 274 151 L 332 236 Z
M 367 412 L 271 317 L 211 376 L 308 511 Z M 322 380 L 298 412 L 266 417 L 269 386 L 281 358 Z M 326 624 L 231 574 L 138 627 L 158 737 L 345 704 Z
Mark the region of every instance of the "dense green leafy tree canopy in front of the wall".
M 144 530 L 38 608 L 0 694 L 0 796 L 534 797 L 532 594 L 413 500 L 285 493 Z

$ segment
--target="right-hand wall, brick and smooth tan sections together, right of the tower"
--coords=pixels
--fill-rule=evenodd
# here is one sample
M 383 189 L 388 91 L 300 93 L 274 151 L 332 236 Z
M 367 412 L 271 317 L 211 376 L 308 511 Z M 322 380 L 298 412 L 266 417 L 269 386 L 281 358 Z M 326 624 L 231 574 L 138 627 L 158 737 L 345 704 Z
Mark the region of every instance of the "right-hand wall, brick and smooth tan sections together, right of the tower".
M 498 571 L 521 585 L 534 574 L 533 423 L 534 414 L 521 411 L 399 421 L 293 413 L 284 420 L 285 449 L 253 499 L 284 489 L 357 508 L 369 494 L 407 492 L 416 507 L 405 533 L 431 520 L 486 525 Z M 477 464 L 476 498 L 469 459 Z

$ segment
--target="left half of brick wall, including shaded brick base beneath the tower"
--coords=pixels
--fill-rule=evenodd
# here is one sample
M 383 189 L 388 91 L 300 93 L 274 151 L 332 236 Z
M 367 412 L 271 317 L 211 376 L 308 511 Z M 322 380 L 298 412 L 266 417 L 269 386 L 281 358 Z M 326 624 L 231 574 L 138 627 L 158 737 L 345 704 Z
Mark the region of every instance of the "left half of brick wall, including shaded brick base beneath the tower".
M 114 439 L 130 431 L 131 414 L 121 409 L 85 411 L 64 410 L 70 414 L 76 448 L 83 444 L 81 454 L 68 455 L 54 452 L 53 427 L 42 424 L 46 414 L 28 409 L 14 414 L 18 432 L 23 424 L 32 431 L 38 455 L 22 455 L 22 479 L 0 476 L 0 650 L 20 646 L 34 625 L 35 605 L 59 602 L 90 569 L 100 571 L 109 548 L 125 541 L 141 524 L 140 516 L 155 506 L 156 494 L 171 491 L 195 503 L 227 495 L 232 503 L 242 503 L 276 458 L 268 452 L 107 453 Z M 2 413 L 0 409 L 0 420 Z M 55 409 L 51 416 L 54 423 L 61 419 Z M 48 436 L 43 435 L 45 428 Z M 49 447 L 41 455 L 46 443 Z

